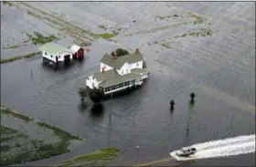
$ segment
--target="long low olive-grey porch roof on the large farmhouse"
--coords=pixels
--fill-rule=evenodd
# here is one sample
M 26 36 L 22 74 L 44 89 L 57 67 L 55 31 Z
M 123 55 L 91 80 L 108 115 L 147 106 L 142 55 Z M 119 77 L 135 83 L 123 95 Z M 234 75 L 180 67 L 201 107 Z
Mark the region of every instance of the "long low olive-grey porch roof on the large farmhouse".
M 101 86 L 102 88 L 107 88 L 107 87 L 111 87 L 113 85 L 121 84 L 126 81 L 131 81 L 131 80 L 133 80 L 135 78 L 139 78 L 139 77 L 141 77 L 139 74 L 129 73 L 129 74 L 125 74 L 123 76 L 119 76 L 117 78 L 111 78 L 108 80 L 104 80 L 99 84 L 99 86 Z

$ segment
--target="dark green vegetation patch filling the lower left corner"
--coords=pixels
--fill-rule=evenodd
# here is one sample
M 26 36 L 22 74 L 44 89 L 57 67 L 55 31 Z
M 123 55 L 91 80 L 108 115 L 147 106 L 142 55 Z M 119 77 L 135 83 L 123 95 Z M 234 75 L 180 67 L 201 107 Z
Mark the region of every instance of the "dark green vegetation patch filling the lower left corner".
M 1 137 L 1 142 L 8 142 L 11 140 L 15 141 L 15 143 L 13 144 L 12 142 L 10 142 L 8 143 L 10 145 L 5 145 L 5 147 L 3 146 L 4 149 L 1 151 L 2 166 L 14 163 L 37 161 L 40 159 L 66 153 L 69 152 L 69 141 L 82 141 L 80 137 L 71 135 L 65 130 L 61 130 L 45 122 L 32 121 L 31 118 L 19 114 L 15 110 L 10 110 L 9 108 L 6 108 L 4 106 L 1 106 L 1 117 L 3 117 L 2 114 L 11 115 L 16 119 L 26 120 L 26 122 L 24 123 L 27 123 L 27 121 L 29 120 L 31 123 L 30 125 L 36 125 L 39 127 L 39 129 L 37 130 L 50 130 L 57 137 L 59 137 L 59 141 L 55 143 L 48 143 L 42 140 L 31 139 L 30 136 L 22 131 L 14 130 L 1 125 L 1 134 L 4 135 Z M 23 140 L 22 142 L 19 142 L 17 141 L 18 139 L 26 139 L 26 141 Z M 12 149 L 12 151 L 9 151 L 10 149 Z

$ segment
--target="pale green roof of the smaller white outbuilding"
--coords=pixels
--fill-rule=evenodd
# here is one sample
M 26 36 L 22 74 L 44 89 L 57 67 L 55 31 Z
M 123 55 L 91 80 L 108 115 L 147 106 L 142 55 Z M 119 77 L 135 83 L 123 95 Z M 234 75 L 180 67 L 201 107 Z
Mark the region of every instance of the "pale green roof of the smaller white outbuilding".
M 57 54 L 62 51 L 71 51 L 69 48 L 62 47 L 59 44 L 55 44 L 55 43 L 47 43 L 45 45 L 42 45 L 41 47 L 39 47 L 39 50 L 45 51 L 51 54 Z

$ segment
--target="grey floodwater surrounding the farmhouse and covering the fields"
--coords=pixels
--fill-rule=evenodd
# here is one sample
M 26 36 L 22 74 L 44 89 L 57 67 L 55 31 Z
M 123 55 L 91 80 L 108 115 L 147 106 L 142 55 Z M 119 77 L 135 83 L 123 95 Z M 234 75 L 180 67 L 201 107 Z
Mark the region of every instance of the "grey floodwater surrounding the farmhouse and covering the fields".
M 24 164 L 48 165 L 112 146 L 123 151 L 113 165 L 133 165 L 166 158 L 170 151 L 194 143 L 255 133 L 255 4 L 29 4 L 45 7 L 49 12 L 54 9 L 59 16 L 74 23 L 86 20 L 78 15 L 86 11 L 84 16 L 88 21 L 78 23 L 84 28 L 93 29 L 103 22 L 127 27 L 127 30 L 115 37 L 117 42 L 92 42 L 91 52 L 84 61 L 74 62 L 69 68 L 55 71 L 44 67 L 40 57 L 1 65 L 2 104 L 88 140 L 76 145 L 70 153 Z M 63 11 L 64 6 L 69 6 L 69 10 Z M 1 9 L 7 7 L 1 6 Z M 183 18 L 155 20 L 155 16 L 168 14 L 183 16 L 188 10 L 208 18 L 212 23 L 211 37 L 174 38 L 205 26 L 174 26 Z M 5 13 L 1 12 L 2 15 Z M 127 33 L 136 34 L 124 36 Z M 173 48 L 152 45 L 161 40 L 171 41 Z M 139 47 L 147 60 L 150 77 L 144 87 L 131 94 L 104 101 L 103 113 L 93 116 L 90 100 L 85 110 L 81 108 L 77 89 L 84 85 L 87 76 L 99 70 L 102 55 L 117 47 L 133 50 Z M 1 49 L 1 57 L 3 54 Z M 188 104 L 191 91 L 196 93 L 193 107 Z M 176 101 L 173 112 L 169 110 L 170 99 Z M 136 146 L 140 147 L 138 151 Z M 255 165 L 255 153 L 184 163 L 190 164 Z

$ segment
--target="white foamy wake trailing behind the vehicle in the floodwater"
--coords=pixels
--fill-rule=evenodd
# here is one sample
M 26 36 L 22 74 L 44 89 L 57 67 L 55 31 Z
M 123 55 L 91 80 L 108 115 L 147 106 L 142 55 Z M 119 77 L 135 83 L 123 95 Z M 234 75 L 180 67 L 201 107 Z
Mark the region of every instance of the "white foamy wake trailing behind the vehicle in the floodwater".
M 172 151 L 170 155 L 177 161 L 188 161 L 251 153 L 255 152 L 255 134 L 197 143 L 190 147 L 196 148 L 197 153 L 189 157 L 178 157 L 176 151 Z

